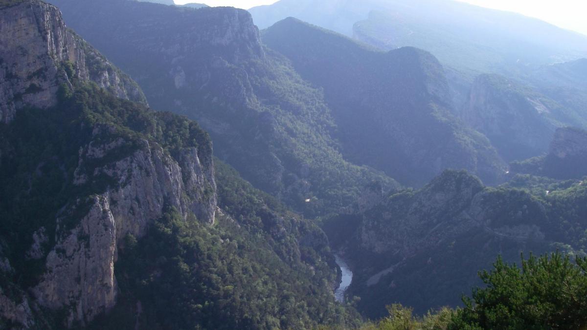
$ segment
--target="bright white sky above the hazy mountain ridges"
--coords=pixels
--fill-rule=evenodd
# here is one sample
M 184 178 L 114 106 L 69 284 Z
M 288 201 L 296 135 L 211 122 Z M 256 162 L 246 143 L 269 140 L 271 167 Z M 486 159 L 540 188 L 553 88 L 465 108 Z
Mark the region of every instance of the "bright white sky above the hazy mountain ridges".
M 209 6 L 233 6 L 249 9 L 268 5 L 275 0 L 175 0 L 176 4 L 204 2 Z M 361 1 L 361 0 L 355 0 Z M 574 30 L 587 35 L 587 0 L 459 0 L 470 4 L 504 11 L 519 12 L 527 16 Z

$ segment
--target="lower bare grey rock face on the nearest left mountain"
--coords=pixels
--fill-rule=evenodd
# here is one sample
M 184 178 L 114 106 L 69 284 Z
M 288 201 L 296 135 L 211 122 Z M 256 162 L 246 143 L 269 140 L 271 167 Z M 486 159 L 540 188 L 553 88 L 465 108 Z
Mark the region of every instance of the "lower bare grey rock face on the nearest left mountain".
M 69 324 L 90 321 L 116 304 L 114 262 L 117 247 L 127 234 L 144 235 L 147 225 L 160 218 L 166 207 L 176 208 L 185 218 L 193 212 L 209 224 L 217 209 L 211 157 L 200 160 L 197 150 L 188 148 L 176 161 L 147 140 L 138 146 L 123 139 L 104 142 L 108 130 L 97 127 L 96 140 L 80 150 L 75 182 L 109 180 L 116 184 L 105 193 L 66 206 L 57 219 L 56 245 L 46 261 L 48 271 L 32 290 L 39 304 L 65 307 Z M 129 148 L 135 150 L 105 161 Z M 85 215 L 79 221 L 76 214 Z

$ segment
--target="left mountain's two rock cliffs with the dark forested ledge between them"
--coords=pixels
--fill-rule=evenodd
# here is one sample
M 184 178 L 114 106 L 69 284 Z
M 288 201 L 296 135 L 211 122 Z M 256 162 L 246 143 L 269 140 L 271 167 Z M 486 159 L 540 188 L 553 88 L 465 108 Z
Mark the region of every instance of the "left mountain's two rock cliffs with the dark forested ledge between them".
M 11 4 L 0 8 L 0 110 L 6 123 L 0 127 L 0 194 L 6 198 L 0 208 L 2 228 L 9 230 L 0 234 L 0 318 L 30 327 L 49 308 L 63 311 L 68 325 L 85 324 L 116 304 L 114 262 L 124 237 L 140 238 L 168 208 L 186 220 L 214 223 L 211 142 L 181 119 L 182 133 L 190 136 L 181 145 L 176 136 L 172 156 L 163 129 L 153 127 L 174 130 L 178 117 L 121 100 L 146 103 L 136 83 L 66 29 L 54 6 Z M 104 112 L 109 114 L 102 117 Z M 21 113 L 26 119 L 19 120 Z M 33 128 L 35 122 L 43 127 Z M 35 144 L 35 134 L 25 132 L 39 129 L 46 137 Z M 60 134 L 68 137 L 59 140 Z M 56 172 L 49 174 L 52 166 Z M 38 180 L 62 188 L 43 196 Z M 33 196 L 43 196 L 45 206 Z M 26 207 L 13 207 L 21 203 Z M 26 208 L 42 209 L 41 218 L 28 218 Z M 9 246 L 6 258 L 3 245 Z M 8 280 L 32 268 L 39 274 L 27 284 Z

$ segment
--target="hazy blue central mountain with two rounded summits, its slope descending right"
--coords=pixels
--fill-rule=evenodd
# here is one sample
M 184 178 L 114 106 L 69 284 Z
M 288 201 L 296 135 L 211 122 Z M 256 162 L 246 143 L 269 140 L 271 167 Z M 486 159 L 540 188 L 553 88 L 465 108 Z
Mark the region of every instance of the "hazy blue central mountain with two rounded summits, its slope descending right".
M 420 186 L 444 169 L 467 169 L 487 183 L 505 172 L 491 144 L 451 115 L 443 68 L 422 50 L 377 52 L 293 18 L 263 41 L 324 89 L 343 154 Z

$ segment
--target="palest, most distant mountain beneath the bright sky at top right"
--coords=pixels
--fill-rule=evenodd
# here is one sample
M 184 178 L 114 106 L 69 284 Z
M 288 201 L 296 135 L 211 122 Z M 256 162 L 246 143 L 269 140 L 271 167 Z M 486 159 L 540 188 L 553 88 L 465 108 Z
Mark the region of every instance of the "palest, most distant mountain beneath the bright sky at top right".
M 414 46 L 452 68 L 505 68 L 571 60 L 587 53 L 587 36 L 510 12 L 447 0 L 281 0 L 250 9 L 259 28 L 294 16 L 394 49 Z

